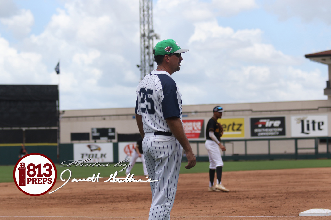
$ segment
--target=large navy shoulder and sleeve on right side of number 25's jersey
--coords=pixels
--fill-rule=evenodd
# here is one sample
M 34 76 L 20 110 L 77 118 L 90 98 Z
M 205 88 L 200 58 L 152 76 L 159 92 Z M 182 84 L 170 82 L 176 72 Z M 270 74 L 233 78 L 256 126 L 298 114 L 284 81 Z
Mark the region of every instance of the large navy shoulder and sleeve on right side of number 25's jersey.
M 180 118 L 180 109 L 177 98 L 177 87 L 175 81 L 166 74 L 158 74 L 163 90 L 162 112 L 163 118 Z

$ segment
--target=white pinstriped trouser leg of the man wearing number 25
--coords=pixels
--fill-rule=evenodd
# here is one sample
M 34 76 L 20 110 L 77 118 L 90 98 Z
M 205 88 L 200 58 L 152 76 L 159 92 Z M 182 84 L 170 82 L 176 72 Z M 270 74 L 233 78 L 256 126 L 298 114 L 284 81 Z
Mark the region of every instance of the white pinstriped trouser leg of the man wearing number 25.
M 170 136 L 167 141 L 155 141 L 153 145 L 155 175 L 160 181 L 155 182 L 149 220 L 168 220 L 177 191 L 182 147 Z

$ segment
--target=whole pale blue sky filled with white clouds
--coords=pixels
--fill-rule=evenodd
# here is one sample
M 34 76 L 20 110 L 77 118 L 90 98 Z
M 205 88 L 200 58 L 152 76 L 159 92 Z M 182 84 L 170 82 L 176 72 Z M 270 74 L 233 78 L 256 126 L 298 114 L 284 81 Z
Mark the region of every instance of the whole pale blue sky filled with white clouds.
M 154 0 L 183 54 L 183 105 L 326 99 L 329 0 Z M 139 0 L 0 0 L 0 84 L 58 84 L 60 108 L 134 107 Z M 154 44 L 156 41 L 154 42 Z M 60 60 L 60 75 L 54 67 Z

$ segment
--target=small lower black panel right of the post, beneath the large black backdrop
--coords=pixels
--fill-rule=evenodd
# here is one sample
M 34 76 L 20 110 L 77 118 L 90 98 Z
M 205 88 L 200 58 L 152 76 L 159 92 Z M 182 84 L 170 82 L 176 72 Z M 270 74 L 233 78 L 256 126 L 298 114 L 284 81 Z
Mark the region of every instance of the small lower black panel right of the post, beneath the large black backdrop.
M 57 143 L 57 130 L 25 130 L 25 143 Z

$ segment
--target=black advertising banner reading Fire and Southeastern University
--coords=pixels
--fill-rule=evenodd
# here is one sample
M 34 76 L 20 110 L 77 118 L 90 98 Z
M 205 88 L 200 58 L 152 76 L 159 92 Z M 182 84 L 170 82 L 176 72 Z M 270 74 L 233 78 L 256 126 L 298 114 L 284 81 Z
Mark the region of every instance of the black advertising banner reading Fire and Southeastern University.
M 285 117 L 251 118 L 251 137 L 285 135 Z

